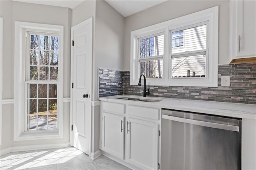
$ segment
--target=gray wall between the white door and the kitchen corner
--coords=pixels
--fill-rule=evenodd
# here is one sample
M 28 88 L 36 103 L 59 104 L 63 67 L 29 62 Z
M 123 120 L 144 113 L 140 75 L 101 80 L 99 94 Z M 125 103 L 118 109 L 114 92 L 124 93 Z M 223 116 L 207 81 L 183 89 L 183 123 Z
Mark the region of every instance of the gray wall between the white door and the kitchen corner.
M 123 69 L 124 17 L 105 1 L 96 1 L 95 77 L 98 67 Z M 98 79 L 94 81 L 98 98 Z

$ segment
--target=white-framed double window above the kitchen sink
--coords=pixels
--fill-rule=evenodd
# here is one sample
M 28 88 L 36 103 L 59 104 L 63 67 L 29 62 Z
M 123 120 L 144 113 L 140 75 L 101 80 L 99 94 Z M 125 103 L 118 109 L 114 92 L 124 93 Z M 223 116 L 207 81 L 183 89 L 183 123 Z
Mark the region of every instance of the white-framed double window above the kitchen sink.
M 218 86 L 218 6 L 131 32 L 130 84 Z

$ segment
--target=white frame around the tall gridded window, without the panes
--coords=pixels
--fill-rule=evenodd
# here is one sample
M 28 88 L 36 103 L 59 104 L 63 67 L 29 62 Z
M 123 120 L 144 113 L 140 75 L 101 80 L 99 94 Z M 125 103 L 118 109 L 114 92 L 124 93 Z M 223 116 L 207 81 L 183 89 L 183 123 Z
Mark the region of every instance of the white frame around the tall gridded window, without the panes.
M 27 130 L 26 114 L 26 34 L 27 32 L 46 32 L 59 34 L 58 58 L 58 124 L 57 129 Z M 14 51 L 14 141 L 38 140 L 63 137 L 63 47 L 64 26 L 15 22 Z

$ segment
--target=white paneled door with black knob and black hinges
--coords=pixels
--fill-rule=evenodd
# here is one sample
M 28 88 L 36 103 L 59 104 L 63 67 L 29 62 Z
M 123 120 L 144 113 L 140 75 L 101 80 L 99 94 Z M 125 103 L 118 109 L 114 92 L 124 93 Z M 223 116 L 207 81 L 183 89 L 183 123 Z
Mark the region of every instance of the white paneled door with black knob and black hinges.
M 92 18 L 71 28 L 70 143 L 89 154 L 92 96 Z

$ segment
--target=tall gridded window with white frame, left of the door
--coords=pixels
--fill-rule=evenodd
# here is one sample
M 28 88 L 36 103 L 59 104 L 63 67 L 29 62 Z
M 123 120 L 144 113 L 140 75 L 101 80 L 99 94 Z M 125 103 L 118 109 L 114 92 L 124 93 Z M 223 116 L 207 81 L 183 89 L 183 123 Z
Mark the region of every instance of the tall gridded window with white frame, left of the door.
M 15 22 L 14 141 L 63 136 L 63 26 Z

